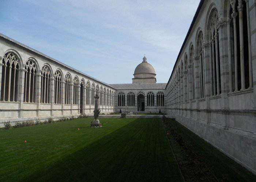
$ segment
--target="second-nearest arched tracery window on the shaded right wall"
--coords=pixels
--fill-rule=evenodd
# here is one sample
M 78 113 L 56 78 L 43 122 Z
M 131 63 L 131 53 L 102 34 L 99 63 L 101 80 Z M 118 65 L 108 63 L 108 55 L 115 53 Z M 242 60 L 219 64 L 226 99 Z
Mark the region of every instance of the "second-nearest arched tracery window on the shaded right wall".
M 219 30 L 217 27 L 218 14 L 213 12 L 211 17 L 211 65 L 212 65 L 212 95 L 221 94 L 221 67 L 219 59 Z

